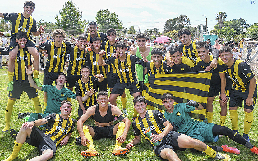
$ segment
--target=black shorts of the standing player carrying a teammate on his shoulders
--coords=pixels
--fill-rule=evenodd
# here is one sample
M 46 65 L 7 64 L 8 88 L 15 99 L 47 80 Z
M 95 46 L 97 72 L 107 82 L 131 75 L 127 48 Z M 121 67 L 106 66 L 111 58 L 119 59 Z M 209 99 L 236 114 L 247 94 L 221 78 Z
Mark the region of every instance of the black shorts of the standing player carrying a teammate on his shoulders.
M 29 96 L 29 99 L 39 96 L 38 90 L 30 87 L 30 83 L 28 80 L 13 80 L 13 83 L 13 90 L 9 92 L 8 97 L 20 99 L 22 92 L 26 92 Z

